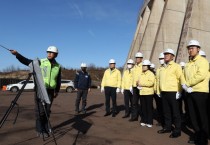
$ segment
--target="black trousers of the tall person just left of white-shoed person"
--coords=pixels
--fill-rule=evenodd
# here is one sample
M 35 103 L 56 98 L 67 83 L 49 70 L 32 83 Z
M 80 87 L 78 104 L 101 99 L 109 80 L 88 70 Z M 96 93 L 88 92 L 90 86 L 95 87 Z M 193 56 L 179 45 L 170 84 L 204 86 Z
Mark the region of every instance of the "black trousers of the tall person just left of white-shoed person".
M 131 118 L 138 118 L 141 112 L 139 89 L 133 87 L 133 109 Z

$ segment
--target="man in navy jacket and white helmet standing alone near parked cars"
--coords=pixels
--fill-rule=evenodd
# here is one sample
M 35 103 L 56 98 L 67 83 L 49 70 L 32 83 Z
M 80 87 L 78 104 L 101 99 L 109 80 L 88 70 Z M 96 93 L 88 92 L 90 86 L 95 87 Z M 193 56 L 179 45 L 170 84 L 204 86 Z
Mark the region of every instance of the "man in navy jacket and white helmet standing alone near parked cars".
M 74 79 L 75 91 L 77 91 L 77 98 L 75 102 L 75 115 L 79 114 L 79 104 L 82 98 L 82 113 L 86 113 L 87 95 L 91 88 L 91 77 L 87 72 L 86 63 L 81 64 L 81 71 L 76 73 Z

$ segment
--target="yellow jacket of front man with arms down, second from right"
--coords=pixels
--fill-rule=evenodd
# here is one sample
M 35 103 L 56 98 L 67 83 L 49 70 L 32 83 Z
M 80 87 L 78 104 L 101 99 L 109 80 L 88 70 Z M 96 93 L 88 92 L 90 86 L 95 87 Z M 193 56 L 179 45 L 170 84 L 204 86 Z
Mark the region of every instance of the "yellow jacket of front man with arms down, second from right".
M 170 61 L 159 71 L 160 91 L 181 92 L 182 68 L 174 61 Z

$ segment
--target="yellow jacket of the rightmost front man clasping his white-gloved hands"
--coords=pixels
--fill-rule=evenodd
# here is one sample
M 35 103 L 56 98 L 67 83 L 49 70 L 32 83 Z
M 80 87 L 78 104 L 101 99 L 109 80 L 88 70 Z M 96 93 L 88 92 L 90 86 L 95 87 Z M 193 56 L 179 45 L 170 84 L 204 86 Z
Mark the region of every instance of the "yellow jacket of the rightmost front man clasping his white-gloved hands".
M 184 68 L 184 82 L 193 92 L 209 92 L 209 63 L 206 58 L 197 55 Z

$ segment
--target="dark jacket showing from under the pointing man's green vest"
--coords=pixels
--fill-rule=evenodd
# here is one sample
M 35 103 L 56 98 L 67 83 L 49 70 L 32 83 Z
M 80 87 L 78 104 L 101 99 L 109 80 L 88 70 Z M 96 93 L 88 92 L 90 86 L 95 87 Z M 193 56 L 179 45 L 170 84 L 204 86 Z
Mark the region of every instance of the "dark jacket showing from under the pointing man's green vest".
M 28 59 L 28 58 L 25 58 L 24 56 L 22 56 L 21 54 L 17 54 L 16 55 L 16 58 L 24 65 L 28 66 L 33 60 L 31 59 Z M 50 61 L 51 64 L 55 63 L 56 60 L 52 60 Z M 58 77 L 57 77 L 57 86 L 55 88 L 55 92 L 59 92 L 60 91 L 60 87 L 61 87 L 61 68 L 59 70 L 59 73 L 58 73 Z

